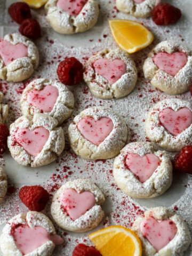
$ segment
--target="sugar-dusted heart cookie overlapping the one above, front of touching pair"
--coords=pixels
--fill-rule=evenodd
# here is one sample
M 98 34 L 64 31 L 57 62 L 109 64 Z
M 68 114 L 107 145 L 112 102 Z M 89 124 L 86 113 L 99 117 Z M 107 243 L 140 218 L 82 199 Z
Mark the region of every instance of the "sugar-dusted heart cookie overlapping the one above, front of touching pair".
M 58 121 L 46 114 L 21 116 L 10 126 L 7 145 L 21 165 L 38 167 L 50 164 L 62 153 L 65 139 Z

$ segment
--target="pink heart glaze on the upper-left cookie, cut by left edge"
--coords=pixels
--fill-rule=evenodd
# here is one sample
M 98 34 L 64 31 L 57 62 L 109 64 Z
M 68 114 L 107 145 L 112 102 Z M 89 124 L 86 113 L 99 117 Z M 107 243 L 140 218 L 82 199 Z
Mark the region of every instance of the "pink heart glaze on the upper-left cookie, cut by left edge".
M 4 41 L 0 38 L 0 56 L 5 63 L 5 66 L 9 65 L 13 60 L 20 59 L 28 56 L 27 46 L 24 44 L 15 44 L 8 41 Z

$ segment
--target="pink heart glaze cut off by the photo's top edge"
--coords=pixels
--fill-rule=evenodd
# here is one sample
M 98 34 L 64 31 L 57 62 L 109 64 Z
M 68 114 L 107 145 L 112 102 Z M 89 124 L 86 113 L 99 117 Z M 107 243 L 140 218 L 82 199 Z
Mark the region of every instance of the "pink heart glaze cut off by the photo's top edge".
M 70 16 L 77 17 L 86 3 L 87 0 L 58 0 L 57 7 L 69 13 Z

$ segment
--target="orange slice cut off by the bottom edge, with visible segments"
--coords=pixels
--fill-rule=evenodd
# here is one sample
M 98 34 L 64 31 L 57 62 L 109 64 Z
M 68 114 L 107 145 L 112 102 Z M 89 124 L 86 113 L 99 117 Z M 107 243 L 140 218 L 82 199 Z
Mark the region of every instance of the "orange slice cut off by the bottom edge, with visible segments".
M 141 242 L 135 233 L 122 226 L 111 226 L 89 235 L 102 256 L 141 256 Z

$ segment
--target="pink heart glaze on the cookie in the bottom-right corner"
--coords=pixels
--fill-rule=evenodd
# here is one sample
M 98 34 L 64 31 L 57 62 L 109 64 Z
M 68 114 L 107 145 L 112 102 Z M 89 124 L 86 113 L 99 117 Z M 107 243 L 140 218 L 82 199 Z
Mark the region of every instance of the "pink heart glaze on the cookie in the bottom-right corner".
M 172 220 L 158 221 L 153 217 L 145 217 L 140 223 L 142 236 L 158 252 L 165 247 L 176 235 L 177 227 Z

